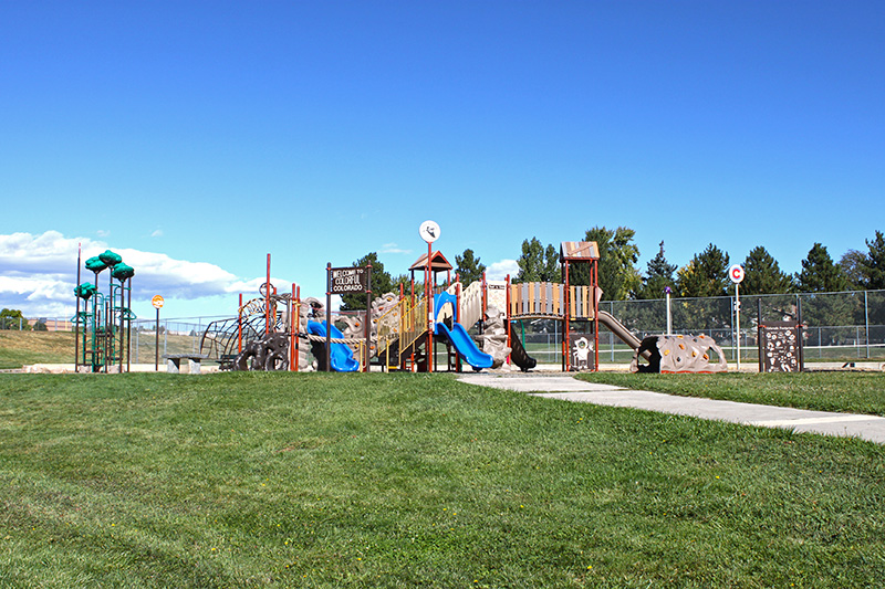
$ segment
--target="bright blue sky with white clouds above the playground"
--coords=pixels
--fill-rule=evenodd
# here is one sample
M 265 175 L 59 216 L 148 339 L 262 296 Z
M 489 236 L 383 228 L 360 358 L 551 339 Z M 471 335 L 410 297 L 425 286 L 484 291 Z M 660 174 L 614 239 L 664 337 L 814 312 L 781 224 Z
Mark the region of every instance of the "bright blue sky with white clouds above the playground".
M 885 2 L 0 0 L 0 306 L 232 315 L 376 251 L 393 274 L 636 231 L 789 272 L 885 230 Z M 137 262 L 137 263 L 136 263 Z M 140 265 L 139 265 L 140 264 Z

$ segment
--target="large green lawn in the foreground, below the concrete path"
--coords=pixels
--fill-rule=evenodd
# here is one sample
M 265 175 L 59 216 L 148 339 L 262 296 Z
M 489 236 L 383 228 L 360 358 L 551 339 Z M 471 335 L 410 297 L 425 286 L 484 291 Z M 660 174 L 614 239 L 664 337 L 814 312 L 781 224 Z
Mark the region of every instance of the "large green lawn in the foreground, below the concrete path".
M 876 587 L 884 459 L 451 375 L 2 375 L 0 587 Z

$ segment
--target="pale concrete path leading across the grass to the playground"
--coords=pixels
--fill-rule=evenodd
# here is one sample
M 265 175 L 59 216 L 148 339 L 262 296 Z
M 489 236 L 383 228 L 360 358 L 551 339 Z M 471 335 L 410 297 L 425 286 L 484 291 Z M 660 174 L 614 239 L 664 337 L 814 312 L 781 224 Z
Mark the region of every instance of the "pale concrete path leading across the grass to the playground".
M 879 444 L 885 443 L 885 418 L 875 416 L 806 411 L 785 407 L 677 397 L 662 392 L 622 389 L 611 385 L 596 385 L 577 380 L 571 376 L 551 376 L 549 374 L 464 375 L 459 377 L 459 380 L 469 385 L 521 391 L 564 401 L 632 407 L 743 425 L 782 428 L 796 433 L 841 435 L 860 438 Z

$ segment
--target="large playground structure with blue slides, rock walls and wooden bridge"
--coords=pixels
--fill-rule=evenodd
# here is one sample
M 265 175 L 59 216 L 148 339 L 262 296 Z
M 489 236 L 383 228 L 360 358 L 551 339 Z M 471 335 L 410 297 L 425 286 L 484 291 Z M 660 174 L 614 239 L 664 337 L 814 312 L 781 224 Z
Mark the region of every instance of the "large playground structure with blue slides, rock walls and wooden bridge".
M 445 345 L 446 368 L 451 371 L 461 371 L 465 365 L 481 370 L 511 362 L 525 371 L 535 368 L 537 361 L 527 353 L 514 322 L 540 318 L 562 323 L 563 371 L 598 369 L 600 325 L 634 350 L 634 372 L 727 369 L 721 349 L 709 337 L 662 335 L 641 341 L 611 314 L 600 311 L 598 260 L 595 242 L 562 242 L 562 283 L 513 284 L 510 276 L 492 282 L 483 275 L 464 285 L 457 275 L 451 281 L 451 264 L 428 242 L 427 254 L 409 267 L 408 293 L 400 285 L 398 294 L 373 298 L 371 266 L 332 269 L 330 264 L 324 305 L 317 298 L 302 299 L 295 284 L 291 294 L 278 294 L 270 283 L 268 254 L 261 296 L 243 303 L 240 295 L 237 317 L 210 324 L 200 353 L 218 359 L 222 369 L 235 370 L 367 371 L 374 359 L 383 370 L 434 371 L 438 347 Z M 329 308 L 335 290 L 333 272 L 346 275 L 343 282 L 351 292 L 366 293 L 366 312 L 337 313 L 333 320 Z M 415 290 L 416 272 L 425 275 L 424 293 Z M 360 286 L 360 276 L 366 273 L 369 278 Z M 440 273 L 446 275 L 444 286 L 437 285 Z M 585 284 L 572 284 L 575 274 Z M 475 326 L 478 333 L 471 336 Z M 712 359 L 714 353 L 718 360 Z

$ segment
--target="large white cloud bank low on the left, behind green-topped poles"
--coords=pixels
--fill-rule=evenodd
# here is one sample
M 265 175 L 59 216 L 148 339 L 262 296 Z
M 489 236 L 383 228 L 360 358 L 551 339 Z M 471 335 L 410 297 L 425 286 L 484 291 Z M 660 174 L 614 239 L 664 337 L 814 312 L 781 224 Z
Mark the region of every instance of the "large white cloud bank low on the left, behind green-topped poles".
M 76 299 L 77 248 L 81 264 L 108 249 L 107 243 L 87 238 L 65 238 L 58 231 L 42 234 L 0 235 L 0 306 L 21 309 L 25 316 L 65 317 L 73 315 Z M 156 293 L 185 301 L 227 295 L 254 286 L 263 280 L 243 281 L 206 262 L 175 260 L 166 254 L 132 249 L 114 249 L 135 269 L 133 301 L 149 299 Z M 98 275 L 104 292 L 107 272 Z M 81 265 L 81 281 L 94 282 L 94 275 Z

